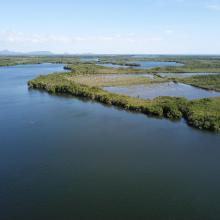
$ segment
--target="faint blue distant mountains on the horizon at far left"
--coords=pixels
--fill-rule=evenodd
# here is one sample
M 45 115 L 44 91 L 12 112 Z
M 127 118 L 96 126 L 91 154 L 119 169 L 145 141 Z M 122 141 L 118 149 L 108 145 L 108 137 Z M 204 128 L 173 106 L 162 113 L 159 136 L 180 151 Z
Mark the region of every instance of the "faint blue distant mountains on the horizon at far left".
M 32 51 L 32 52 L 16 52 L 10 50 L 1 50 L 0 56 L 53 56 L 50 51 Z

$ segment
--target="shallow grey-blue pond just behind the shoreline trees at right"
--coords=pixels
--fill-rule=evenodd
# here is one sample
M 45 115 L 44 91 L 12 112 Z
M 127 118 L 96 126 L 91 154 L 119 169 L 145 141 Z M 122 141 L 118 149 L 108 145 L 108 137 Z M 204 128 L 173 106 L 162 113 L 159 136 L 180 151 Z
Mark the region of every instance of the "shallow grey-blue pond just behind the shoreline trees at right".
M 157 83 L 151 85 L 105 87 L 105 90 L 118 94 L 154 99 L 158 96 L 177 96 L 187 99 L 199 99 L 220 96 L 220 92 L 208 91 L 182 83 Z

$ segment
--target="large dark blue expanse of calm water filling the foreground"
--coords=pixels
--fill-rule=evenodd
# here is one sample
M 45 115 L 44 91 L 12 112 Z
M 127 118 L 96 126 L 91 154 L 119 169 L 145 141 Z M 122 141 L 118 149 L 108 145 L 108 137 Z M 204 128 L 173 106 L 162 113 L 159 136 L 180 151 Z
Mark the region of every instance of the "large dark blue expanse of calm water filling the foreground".
M 220 135 L 26 81 L 0 68 L 0 219 L 220 219 Z

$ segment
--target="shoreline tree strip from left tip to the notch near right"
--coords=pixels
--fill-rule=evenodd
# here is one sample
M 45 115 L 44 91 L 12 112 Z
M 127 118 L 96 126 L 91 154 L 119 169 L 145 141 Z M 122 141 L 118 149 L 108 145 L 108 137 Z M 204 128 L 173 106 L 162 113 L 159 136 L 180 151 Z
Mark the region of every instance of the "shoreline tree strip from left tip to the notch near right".
M 43 89 L 49 93 L 65 93 L 84 97 L 104 104 L 156 115 L 158 117 L 165 116 L 170 119 L 179 119 L 182 117 L 179 107 L 181 106 L 180 103 L 185 102 L 183 98 L 157 98 L 154 101 L 137 99 L 109 93 L 98 87 L 77 84 L 73 80 L 68 80 L 67 75 L 71 75 L 71 73 L 39 76 L 29 81 L 28 85 L 30 88 Z

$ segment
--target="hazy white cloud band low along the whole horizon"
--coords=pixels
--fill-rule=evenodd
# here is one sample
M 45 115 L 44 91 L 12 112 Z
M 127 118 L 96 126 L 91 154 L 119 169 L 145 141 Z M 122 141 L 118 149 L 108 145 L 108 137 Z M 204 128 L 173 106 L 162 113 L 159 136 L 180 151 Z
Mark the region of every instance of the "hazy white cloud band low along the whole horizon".
M 210 42 L 218 42 L 216 40 Z M 219 53 L 218 43 L 206 44 L 190 33 L 163 26 L 156 33 L 112 33 L 103 35 L 39 34 L 0 31 L 0 50 L 49 50 L 55 53 Z M 207 45 L 207 46 L 206 46 Z

